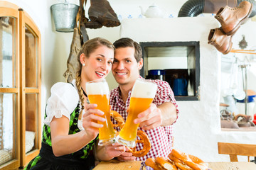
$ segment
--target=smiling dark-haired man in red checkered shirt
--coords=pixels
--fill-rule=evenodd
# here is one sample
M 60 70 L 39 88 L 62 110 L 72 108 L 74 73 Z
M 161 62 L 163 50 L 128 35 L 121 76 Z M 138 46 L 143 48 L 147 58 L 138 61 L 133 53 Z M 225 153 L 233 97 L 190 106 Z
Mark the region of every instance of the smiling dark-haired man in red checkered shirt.
M 119 86 L 110 93 L 110 105 L 113 111 L 117 111 L 127 120 L 127 108 L 136 79 L 142 69 L 142 48 L 130 38 L 121 38 L 114 42 L 114 62 L 112 74 Z M 138 130 L 144 130 L 149 136 L 151 149 L 144 157 L 132 157 L 131 152 L 124 152 L 117 159 L 120 161 L 145 161 L 149 157 L 167 157 L 171 152 L 173 136 L 172 124 L 178 118 L 178 109 L 174 93 L 166 81 L 151 80 L 158 85 L 156 96 L 150 107 L 139 113 L 134 123 L 139 123 Z M 137 150 L 143 145 L 138 144 Z

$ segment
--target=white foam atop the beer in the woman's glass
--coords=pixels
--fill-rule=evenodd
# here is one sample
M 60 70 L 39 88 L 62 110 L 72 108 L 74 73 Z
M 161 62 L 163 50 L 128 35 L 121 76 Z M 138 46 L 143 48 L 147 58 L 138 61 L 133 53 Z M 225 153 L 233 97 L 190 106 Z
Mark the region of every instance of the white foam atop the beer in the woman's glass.
M 107 82 L 98 82 L 98 83 L 87 83 L 86 85 L 86 94 L 110 94 L 109 86 Z

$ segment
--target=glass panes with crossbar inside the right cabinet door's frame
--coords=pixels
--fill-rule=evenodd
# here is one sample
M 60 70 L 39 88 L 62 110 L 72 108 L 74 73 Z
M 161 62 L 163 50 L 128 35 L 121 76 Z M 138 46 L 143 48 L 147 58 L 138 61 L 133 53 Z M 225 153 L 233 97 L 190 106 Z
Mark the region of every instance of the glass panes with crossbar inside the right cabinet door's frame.
M 38 55 L 37 55 L 37 37 L 31 28 L 25 26 L 25 68 L 24 87 L 25 87 L 25 153 L 39 149 L 36 142 L 36 133 L 39 131 L 38 126 Z M 38 140 L 38 138 L 37 138 Z

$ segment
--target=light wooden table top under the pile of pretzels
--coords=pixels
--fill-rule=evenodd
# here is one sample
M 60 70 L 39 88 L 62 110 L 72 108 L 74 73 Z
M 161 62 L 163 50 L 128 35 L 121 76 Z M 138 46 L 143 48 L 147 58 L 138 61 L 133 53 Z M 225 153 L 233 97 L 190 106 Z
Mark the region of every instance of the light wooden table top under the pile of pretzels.
M 255 170 L 256 164 L 252 162 L 208 162 L 211 170 Z M 111 160 L 110 162 L 100 162 L 93 170 L 139 170 L 141 162 L 119 162 Z

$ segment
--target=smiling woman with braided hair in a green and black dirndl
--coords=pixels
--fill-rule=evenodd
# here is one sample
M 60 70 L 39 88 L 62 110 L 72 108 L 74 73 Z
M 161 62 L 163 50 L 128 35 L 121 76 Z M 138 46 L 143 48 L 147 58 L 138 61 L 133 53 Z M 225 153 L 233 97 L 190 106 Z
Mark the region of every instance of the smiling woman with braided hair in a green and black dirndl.
M 102 127 L 97 120 L 105 120 L 100 117 L 102 111 L 90 111 L 95 104 L 88 104 L 85 94 L 85 83 L 107 77 L 113 60 L 111 42 L 102 38 L 85 42 L 78 55 L 75 80 L 56 83 L 50 89 L 40 154 L 25 169 L 92 169 L 92 149 L 96 159 L 104 161 L 124 152 L 124 146 L 118 144 L 95 147 L 98 128 Z

